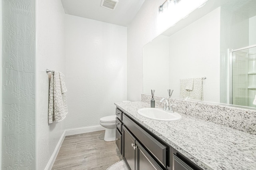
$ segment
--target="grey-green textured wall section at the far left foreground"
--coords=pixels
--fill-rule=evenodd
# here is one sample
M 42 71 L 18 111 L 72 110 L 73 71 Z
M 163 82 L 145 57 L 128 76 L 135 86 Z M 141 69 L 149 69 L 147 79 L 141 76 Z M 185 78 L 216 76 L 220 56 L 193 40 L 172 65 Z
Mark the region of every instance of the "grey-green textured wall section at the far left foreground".
M 2 0 L 2 169 L 35 169 L 35 2 Z

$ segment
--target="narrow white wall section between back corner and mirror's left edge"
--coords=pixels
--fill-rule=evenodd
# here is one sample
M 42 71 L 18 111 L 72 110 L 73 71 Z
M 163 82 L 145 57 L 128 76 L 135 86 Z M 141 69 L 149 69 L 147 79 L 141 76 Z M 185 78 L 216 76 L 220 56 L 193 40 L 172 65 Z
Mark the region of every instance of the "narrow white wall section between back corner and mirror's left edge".
M 127 28 L 127 99 L 140 101 L 143 93 L 143 46 L 158 36 L 157 9 L 162 0 L 148 0 Z

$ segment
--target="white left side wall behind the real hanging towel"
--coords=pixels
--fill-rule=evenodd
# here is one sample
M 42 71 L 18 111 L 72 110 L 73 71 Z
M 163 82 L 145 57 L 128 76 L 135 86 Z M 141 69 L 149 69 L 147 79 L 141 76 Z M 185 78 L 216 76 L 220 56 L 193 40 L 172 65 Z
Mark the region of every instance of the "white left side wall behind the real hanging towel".
M 50 80 L 45 71 L 50 69 L 66 73 L 65 25 L 61 0 L 36 2 L 36 169 L 43 170 L 66 129 L 65 120 L 48 124 Z M 70 93 L 69 89 L 67 93 Z

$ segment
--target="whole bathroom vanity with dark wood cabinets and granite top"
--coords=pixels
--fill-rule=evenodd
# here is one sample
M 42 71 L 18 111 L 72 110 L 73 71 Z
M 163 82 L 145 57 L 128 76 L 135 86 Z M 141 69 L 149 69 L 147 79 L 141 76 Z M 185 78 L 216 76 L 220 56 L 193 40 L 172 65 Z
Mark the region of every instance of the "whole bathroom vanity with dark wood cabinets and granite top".
M 256 169 L 256 136 L 182 114 L 142 117 L 148 103 L 115 103 L 116 144 L 130 170 Z

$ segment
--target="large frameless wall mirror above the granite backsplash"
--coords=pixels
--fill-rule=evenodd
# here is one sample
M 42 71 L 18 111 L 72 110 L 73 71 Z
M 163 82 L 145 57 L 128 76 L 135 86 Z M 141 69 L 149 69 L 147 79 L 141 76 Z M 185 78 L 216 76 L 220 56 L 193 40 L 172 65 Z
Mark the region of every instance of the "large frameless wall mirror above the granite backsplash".
M 166 21 L 167 22 L 167 21 Z M 143 48 L 143 93 L 180 98 L 206 77 L 204 101 L 256 107 L 256 0 L 208 0 Z

